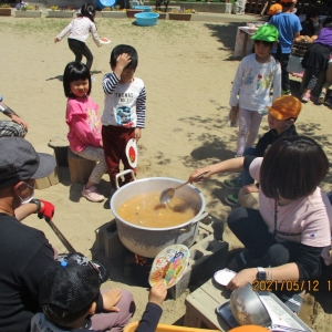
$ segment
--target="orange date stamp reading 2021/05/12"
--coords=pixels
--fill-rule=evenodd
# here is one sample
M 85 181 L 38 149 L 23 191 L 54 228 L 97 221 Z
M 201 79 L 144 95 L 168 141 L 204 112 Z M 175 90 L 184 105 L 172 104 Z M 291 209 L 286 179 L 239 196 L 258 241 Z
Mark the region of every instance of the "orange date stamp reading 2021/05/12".
M 289 292 L 298 292 L 298 291 L 313 291 L 319 292 L 323 291 L 332 291 L 332 280 L 326 280 L 326 284 L 321 284 L 319 280 L 282 280 L 278 282 L 277 280 L 253 280 L 252 289 L 253 291 L 289 291 Z

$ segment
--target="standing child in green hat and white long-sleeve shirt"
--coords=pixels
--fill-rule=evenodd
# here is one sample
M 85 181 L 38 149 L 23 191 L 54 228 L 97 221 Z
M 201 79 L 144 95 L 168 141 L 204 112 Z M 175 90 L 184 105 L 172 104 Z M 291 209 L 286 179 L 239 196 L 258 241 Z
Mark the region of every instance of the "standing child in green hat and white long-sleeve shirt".
M 252 146 L 262 120 L 259 112 L 281 94 L 280 64 L 270 54 L 278 37 L 278 30 L 271 24 L 259 28 L 251 37 L 255 53 L 243 58 L 237 69 L 229 101 L 230 113 L 235 113 L 237 108 L 239 112 L 236 156 L 242 156 L 245 148 Z

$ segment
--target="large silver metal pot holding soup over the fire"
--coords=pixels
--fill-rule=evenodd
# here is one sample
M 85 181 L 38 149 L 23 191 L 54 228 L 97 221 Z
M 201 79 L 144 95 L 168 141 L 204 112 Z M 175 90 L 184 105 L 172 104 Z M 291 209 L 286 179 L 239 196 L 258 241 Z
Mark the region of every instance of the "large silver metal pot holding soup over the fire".
M 122 176 L 127 172 L 123 172 L 117 176 Z M 134 177 L 134 175 L 132 175 Z M 189 201 L 198 210 L 195 218 L 174 227 L 167 228 L 147 228 L 133 225 L 122 219 L 117 210 L 122 204 L 141 194 L 162 193 L 166 188 L 176 187 L 183 181 L 168 177 L 149 177 L 134 180 L 115 191 L 111 199 L 111 210 L 115 216 L 116 227 L 120 240 L 131 251 L 155 258 L 159 251 L 170 245 L 191 246 L 195 241 L 199 220 L 205 210 L 205 199 L 203 194 L 194 186 L 187 185 L 176 190 L 176 196 Z

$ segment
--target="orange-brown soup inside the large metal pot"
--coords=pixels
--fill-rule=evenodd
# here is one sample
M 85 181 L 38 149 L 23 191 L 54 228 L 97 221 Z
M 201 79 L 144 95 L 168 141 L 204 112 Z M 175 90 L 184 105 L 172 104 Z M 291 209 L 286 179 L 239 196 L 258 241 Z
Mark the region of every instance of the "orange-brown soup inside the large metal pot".
M 174 196 L 166 205 L 159 201 L 160 193 L 146 193 L 126 200 L 117 210 L 118 216 L 137 226 L 165 228 L 181 225 L 197 214 L 196 204 Z

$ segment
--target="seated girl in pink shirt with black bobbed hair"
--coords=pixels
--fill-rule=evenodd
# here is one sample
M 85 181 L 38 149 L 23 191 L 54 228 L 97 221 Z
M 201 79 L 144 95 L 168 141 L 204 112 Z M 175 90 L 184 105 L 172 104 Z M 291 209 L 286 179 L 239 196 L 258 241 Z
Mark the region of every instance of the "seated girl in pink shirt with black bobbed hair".
M 83 63 L 70 62 L 63 74 L 63 89 L 68 97 L 65 122 L 69 125 L 68 139 L 71 151 L 85 159 L 98 162 L 83 187 L 82 196 L 91 201 L 102 201 L 96 185 L 107 170 L 101 134 L 98 105 L 90 97 L 91 75 Z

